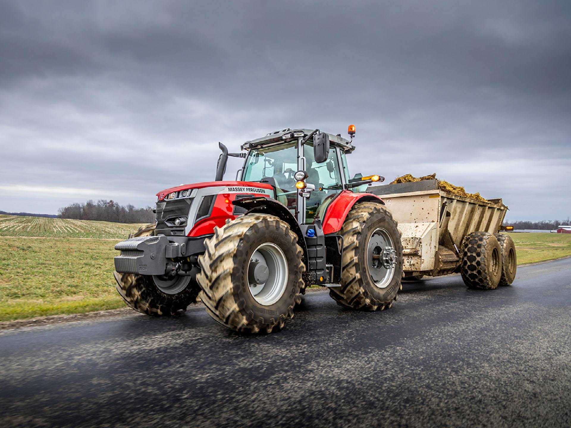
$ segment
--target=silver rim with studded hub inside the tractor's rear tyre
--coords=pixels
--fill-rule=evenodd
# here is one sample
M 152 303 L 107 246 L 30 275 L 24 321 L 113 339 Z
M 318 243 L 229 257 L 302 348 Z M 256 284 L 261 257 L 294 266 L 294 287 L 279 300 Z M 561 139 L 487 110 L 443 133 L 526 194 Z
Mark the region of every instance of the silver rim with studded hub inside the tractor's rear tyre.
M 373 283 L 378 288 L 387 288 L 395 276 L 395 245 L 391 235 L 383 228 L 375 229 L 369 238 L 367 268 Z

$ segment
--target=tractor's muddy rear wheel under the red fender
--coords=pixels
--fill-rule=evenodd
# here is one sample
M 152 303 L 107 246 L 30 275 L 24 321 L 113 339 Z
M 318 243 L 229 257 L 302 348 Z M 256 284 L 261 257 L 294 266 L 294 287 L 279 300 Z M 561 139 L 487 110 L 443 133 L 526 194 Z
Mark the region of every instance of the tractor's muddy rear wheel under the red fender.
M 340 235 L 341 286 L 330 288 L 329 296 L 345 308 L 390 308 L 403 276 L 403 246 L 391 213 L 378 203 L 357 203 L 349 211 Z

